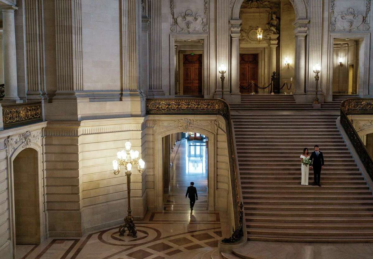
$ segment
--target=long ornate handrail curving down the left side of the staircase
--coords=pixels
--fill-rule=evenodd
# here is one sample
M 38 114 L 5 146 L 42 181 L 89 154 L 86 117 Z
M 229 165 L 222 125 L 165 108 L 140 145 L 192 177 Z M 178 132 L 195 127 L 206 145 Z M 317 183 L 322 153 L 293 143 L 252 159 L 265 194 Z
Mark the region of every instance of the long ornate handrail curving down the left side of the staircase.
M 233 125 L 231 123 L 231 111 L 228 103 L 222 99 L 146 99 L 147 115 L 221 115 L 225 119 L 229 173 L 233 199 L 233 213 L 235 230 L 225 243 L 235 243 L 241 240 L 243 233 L 243 204 L 241 198 L 241 186 L 238 179 L 238 159 L 235 156 L 235 140 L 233 137 Z M 241 215 L 241 217 L 240 217 Z

